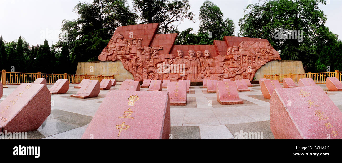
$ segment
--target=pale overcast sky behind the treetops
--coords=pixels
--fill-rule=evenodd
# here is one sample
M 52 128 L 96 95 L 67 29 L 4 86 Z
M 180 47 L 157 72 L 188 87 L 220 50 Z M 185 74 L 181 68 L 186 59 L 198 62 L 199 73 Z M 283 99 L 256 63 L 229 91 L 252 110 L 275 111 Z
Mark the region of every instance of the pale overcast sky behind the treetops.
M 0 34 L 4 41 L 17 40 L 21 35 L 26 42 L 35 46 L 44 43 L 46 38 L 51 46 L 52 42 L 58 41 L 62 20 L 78 18 L 73 9 L 79 1 L 92 2 L 92 0 L 0 0 Z M 195 14 L 196 22 L 185 20 L 179 25 L 180 31 L 189 27 L 198 30 L 199 9 L 204 1 L 189 0 L 190 10 Z M 258 0 L 211 1 L 221 8 L 224 20 L 230 18 L 234 21 L 236 33 L 240 30 L 238 21 L 244 16 L 244 8 L 250 3 L 258 3 Z M 342 0 L 327 0 L 327 2 L 329 4 L 319 6 L 328 18 L 326 26 L 333 33 L 339 34 L 341 39 Z

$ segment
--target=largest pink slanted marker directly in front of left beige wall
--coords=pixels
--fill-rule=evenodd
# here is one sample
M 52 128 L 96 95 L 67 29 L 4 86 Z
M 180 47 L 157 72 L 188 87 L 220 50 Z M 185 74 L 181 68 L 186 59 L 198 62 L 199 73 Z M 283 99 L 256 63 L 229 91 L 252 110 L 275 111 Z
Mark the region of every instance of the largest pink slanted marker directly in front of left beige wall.
M 86 82 L 87 83 L 84 83 L 76 94 L 72 94 L 70 97 L 80 99 L 97 97 L 100 93 L 100 82 L 98 80 L 89 80 Z

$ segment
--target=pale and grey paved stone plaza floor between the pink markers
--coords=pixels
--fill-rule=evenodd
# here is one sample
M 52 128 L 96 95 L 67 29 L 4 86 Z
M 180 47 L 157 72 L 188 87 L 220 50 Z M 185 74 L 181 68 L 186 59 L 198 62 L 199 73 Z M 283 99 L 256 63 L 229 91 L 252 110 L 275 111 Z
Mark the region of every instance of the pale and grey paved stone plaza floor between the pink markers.
M 3 89 L 4 100 L 18 85 Z M 51 88 L 52 85 L 48 85 Z M 96 110 L 109 90 L 101 90 L 96 98 L 70 98 L 78 89 L 70 84 L 66 94 L 51 95 L 51 114 L 28 139 L 80 139 Z M 120 85 L 111 89 L 118 89 Z M 325 91 L 325 84 L 320 84 Z M 208 93 L 202 86 L 191 86 L 186 106 L 171 106 L 171 134 L 173 139 L 234 139 L 236 132 L 262 132 L 263 139 L 274 139 L 269 128 L 269 99 L 264 99 L 260 85 L 239 92 L 244 104 L 221 105 L 216 93 Z M 146 91 L 148 88 L 141 88 Z M 166 91 L 163 88 L 162 91 Z M 342 92 L 328 91 L 329 98 L 342 111 Z

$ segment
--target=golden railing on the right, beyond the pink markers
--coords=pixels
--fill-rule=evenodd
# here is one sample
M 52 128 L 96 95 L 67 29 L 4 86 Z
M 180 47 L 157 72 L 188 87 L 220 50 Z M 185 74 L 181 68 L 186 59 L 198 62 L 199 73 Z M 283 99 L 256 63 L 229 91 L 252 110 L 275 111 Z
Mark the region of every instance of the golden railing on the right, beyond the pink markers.
M 335 72 L 321 72 L 321 73 L 306 73 L 306 74 L 288 74 L 288 75 L 264 75 L 266 79 L 279 80 L 282 83 L 283 78 L 292 78 L 294 83 L 298 83 L 301 78 L 312 78 L 316 84 L 326 84 L 327 77 L 337 77 L 340 81 L 342 79 L 342 72 L 335 70 Z

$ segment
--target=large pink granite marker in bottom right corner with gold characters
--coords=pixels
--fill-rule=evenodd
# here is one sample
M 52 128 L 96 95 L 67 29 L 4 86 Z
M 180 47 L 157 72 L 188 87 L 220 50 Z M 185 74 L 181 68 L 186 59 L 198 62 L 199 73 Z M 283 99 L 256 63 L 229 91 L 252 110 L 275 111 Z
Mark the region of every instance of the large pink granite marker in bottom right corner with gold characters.
M 342 112 L 320 86 L 276 89 L 269 105 L 275 139 L 342 139 Z

